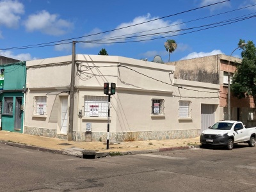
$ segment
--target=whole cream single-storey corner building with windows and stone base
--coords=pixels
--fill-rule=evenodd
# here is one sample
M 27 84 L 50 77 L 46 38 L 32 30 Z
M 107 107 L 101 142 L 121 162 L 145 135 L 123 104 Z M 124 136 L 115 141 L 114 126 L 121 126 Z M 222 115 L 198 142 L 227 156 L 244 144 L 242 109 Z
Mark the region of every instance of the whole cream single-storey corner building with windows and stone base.
M 72 139 L 196 137 L 220 118 L 220 84 L 173 78 L 175 66 L 120 56 L 76 55 Z M 72 56 L 27 61 L 24 133 L 67 139 Z

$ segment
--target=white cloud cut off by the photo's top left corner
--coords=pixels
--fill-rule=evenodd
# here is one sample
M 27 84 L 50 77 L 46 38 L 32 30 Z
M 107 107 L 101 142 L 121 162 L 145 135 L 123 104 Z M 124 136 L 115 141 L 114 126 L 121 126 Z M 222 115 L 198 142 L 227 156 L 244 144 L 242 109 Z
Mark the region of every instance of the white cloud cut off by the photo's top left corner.
M 18 1 L 0 1 L 0 25 L 8 28 L 19 26 L 20 15 L 24 13 L 24 5 Z

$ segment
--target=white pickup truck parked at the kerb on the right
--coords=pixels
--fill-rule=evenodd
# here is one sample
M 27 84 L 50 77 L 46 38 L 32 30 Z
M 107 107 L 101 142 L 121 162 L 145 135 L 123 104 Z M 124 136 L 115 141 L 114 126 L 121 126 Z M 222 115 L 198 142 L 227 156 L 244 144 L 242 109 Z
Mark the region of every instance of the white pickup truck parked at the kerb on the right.
M 255 147 L 256 127 L 246 128 L 242 122 L 220 121 L 202 132 L 200 143 L 202 147 L 207 145 L 224 145 L 232 150 L 234 143 L 248 143 Z

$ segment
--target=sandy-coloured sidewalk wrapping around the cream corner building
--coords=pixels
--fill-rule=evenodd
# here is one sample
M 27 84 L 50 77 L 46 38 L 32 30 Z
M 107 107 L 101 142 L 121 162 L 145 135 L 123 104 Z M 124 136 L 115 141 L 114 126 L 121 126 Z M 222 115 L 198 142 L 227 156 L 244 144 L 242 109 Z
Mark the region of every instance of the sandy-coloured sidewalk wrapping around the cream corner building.
M 17 132 L 0 131 L 0 143 L 14 147 L 86 158 L 86 155 L 90 157 L 106 157 L 195 148 L 200 145 L 200 137 L 175 140 L 110 142 L 109 149 L 107 150 L 106 142 L 67 141 Z

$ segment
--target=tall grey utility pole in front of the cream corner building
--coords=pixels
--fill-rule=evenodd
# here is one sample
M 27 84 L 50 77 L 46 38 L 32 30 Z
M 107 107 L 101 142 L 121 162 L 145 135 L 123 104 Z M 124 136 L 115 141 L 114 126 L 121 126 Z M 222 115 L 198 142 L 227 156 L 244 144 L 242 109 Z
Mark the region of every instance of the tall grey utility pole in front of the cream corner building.
M 69 104 L 69 114 L 68 114 L 69 115 L 68 141 L 72 141 L 72 138 L 73 138 L 75 67 L 76 67 L 76 41 L 73 41 L 72 42 L 71 83 L 70 83 L 70 104 Z

